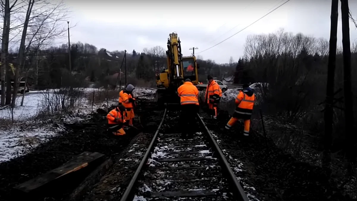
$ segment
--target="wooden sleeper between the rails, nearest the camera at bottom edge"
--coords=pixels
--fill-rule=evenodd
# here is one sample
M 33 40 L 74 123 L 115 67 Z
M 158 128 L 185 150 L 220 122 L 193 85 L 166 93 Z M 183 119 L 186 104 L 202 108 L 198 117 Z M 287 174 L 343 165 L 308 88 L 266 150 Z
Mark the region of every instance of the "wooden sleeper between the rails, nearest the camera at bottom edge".
M 151 192 L 150 197 L 205 197 L 215 196 L 216 192 L 212 190 L 202 191 L 164 191 L 164 192 Z

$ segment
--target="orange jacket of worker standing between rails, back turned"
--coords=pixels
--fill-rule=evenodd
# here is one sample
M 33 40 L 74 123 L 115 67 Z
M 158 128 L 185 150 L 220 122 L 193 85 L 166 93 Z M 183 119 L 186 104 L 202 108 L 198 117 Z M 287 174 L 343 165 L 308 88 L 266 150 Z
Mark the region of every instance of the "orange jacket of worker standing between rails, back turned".
M 198 89 L 192 82 L 185 82 L 177 89 L 177 94 L 181 98 L 181 105 L 198 105 Z

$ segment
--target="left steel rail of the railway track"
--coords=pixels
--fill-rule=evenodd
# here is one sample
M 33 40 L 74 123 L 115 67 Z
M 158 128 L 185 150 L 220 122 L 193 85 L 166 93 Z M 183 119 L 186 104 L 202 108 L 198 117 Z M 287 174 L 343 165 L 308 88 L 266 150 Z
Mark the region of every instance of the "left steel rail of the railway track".
M 164 123 L 164 120 L 165 120 L 166 111 L 167 111 L 167 108 L 165 108 L 164 116 L 161 119 L 159 127 L 157 128 L 157 130 L 156 130 L 156 132 L 154 134 L 154 137 L 152 137 L 152 140 L 151 140 L 151 142 L 149 144 L 149 147 L 147 148 L 144 157 L 142 157 L 142 159 L 140 161 L 140 164 L 137 167 L 137 169 L 136 169 L 136 171 L 134 173 L 134 176 L 131 178 L 129 185 L 126 187 L 125 192 L 123 193 L 120 201 L 126 201 L 128 199 L 128 197 L 129 197 L 130 193 L 132 192 L 132 188 L 135 185 L 135 182 L 136 182 L 136 180 L 137 180 L 137 178 L 138 178 L 138 176 L 139 176 L 139 174 L 141 172 L 141 169 L 142 169 L 142 167 L 144 167 L 144 163 L 146 163 L 147 158 L 149 158 L 149 155 L 150 155 L 150 152 L 151 152 L 152 148 L 154 148 L 154 143 L 155 143 L 155 141 L 157 139 L 157 136 L 159 135 L 159 131 L 160 131 L 160 128 L 162 126 L 162 123 Z

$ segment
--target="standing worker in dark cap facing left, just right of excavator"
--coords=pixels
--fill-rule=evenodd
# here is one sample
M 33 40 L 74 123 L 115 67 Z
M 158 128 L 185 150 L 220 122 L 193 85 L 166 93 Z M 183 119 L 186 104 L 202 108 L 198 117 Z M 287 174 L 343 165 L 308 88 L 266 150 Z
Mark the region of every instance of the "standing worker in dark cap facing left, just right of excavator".
M 208 104 L 211 116 L 217 118 L 217 106 L 220 101 L 220 86 L 213 80 L 211 75 L 207 76 L 208 84 L 205 94 L 205 102 Z

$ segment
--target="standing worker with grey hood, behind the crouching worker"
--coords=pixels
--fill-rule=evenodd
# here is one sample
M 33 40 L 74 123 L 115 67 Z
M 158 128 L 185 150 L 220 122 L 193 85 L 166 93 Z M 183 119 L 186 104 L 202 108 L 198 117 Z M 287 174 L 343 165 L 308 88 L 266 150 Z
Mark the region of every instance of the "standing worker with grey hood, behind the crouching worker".
M 126 109 L 126 121 L 129 122 L 129 126 L 133 126 L 133 119 L 135 117 L 134 108 L 136 107 L 136 102 L 134 95 L 132 94 L 135 89 L 134 85 L 128 84 L 125 89 L 121 90 L 119 93 L 119 104 Z

